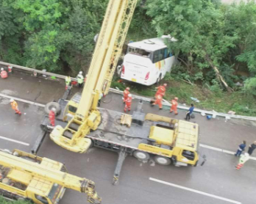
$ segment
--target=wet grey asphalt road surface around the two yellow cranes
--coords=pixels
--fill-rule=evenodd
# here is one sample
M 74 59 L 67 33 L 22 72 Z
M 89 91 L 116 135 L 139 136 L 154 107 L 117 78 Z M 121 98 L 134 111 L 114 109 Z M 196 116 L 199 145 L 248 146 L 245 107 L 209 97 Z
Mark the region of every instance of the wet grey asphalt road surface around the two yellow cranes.
M 6 84 L 10 83 L 8 79 L 15 86 L 7 86 Z M 34 101 L 35 95 L 26 94 L 34 90 L 44 95 L 38 98 L 40 101 L 37 102 L 40 103 L 57 100 L 57 95 L 63 95 L 61 81 L 50 81 L 50 86 L 49 81 L 32 79 L 29 76 L 26 76 L 25 82 L 22 81 L 24 84 L 20 83 L 18 76 L 11 76 L 8 79 L 0 80 L 1 93 L 12 95 L 14 92 L 15 97 Z M 34 80 L 40 80 L 39 87 L 35 88 L 32 85 Z M 138 101 L 133 101 L 132 111 L 136 103 Z M 21 117 L 14 114 L 6 98 L 0 98 L 0 148 L 29 151 L 40 132 L 39 124 L 43 116 L 43 108 L 21 102 L 18 105 L 21 112 L 26 113 Z M 120 95 L 111 93 L 102 99 L 102 107 L 122 111 L 124 104 L 121 103 Z M 185 116 L 182 110 L 179 110 L 179 115 L 174 116 L 168 112 L 167 107 L 159 111 L 157 106 L 151 107 L 147 103 L 143 105 L 143 110 L 179 119 Z M 192 121 L 200 125 L 203 145 L 235 151 L 241 140 L 246 139 L 250 143 L 256 139 L 255 123 L 252 122 L 243 120 L 225 122 L 222 118 L 206 120 L 199 114 L 196 114 L 195 120 Z M 61 161 L 65 163 L 68 172 L 95 181 L 96 191 L 102 196 L 102 203 L 105 204 L 255 203 L 256 161 L 247 161 L 243 169 L 238 171 L 235 170 L 238 158 L 232 154 L 205 147 L 201 147 L 200 152 L 201 155 L 207 156 L 207 162 L 202 167 L 164 167 L 154 164 L 153 161 L 142 163 L 128 156 L 124 161 L 118 186 L 111 184 L 117 160 L 116 153 L 99 148 L 92 148 L 85 154 L 72 153 L 46 138 L 38 155 Z M 60 204 L 68 203 L 86 203 L 85 195 L 68 190 Z

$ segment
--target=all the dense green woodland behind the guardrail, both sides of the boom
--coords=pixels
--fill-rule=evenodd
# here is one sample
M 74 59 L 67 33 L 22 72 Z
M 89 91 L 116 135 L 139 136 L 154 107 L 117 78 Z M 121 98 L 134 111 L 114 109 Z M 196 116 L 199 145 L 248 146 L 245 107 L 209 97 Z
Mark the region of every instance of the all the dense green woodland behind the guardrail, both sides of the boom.
M 86 71 L 107 2 L 0 0 L 0 59 L 71 75 Z M 174 76 L 256 95 L 255 11 L 252 0 L 141 0 L 127 41 L 171 34 L 178 41 L 168 47 L 180 62 Z

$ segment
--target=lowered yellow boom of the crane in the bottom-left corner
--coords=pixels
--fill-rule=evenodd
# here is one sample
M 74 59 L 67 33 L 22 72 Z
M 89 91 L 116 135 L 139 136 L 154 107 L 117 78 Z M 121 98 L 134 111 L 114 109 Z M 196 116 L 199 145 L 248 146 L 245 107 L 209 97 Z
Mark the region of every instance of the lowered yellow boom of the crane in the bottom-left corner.
M 90 181 L 87 178 L 79 178 L 78 176 L 68 174 L 67 172 L 56 170 L 50 167 L 50 165 L 38 164 L 37 162 L 28 161 L 19 157 L 24 156 L 24 154 L 25 156 L 32 158 L 34 157 L 35 159 L 38 158 L 39 161 L 45 160 L 48 164 L 51 164 L 52 161 L 50 159 L 42 159 L 40 157 L 30 155 L 29 153 L 24 153 L 20 150 L 15 150 L 14 155 L 0 151 L 0 165 L 10 167 L 13 170 L 27 172 L 33 176 L 42 178 L 43 180 L 57 183 L 67 189 L 73 189 L 77 192 L 85 193 L 88 195 L 89 203 L 101 203 L 101 198 L 98 197 L 97 193 L 94 191 L 95 183 L 93 181 Z M 55 163 L 55 161 L 52 161 L 52 163 Z

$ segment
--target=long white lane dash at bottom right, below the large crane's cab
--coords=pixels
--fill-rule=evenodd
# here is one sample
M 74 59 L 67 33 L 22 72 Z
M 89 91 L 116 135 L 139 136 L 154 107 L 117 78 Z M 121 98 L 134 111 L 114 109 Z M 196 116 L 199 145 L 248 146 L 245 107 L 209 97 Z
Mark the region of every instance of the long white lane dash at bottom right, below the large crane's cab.
M 183 189 L 183 190 L 186 190 L 186 191 L 189 191 L 189 192 L 194 192 L 194 193 L 197 193 L 197 194 L 203 194 L 203 195 L 206 195 L 208 197 L 216 198 L 218 200 L 224 200 L 224 201 L 227 201 L 227 202 L 230 202 L 230 203 L 241 204 L 241 202 L 238 202 L 238 201 L 235 201 L 235 200 L 230 200 L 228 198 L 220 197 L 220 196 L 217 196 L 217 195 L 214 195 L 214 194 L 208 194 L 208 193 L 205 193 L 205 192 L 200 192 L 200 191 L 195 190 L 195 189 L 190 189 L 190 188 L 187 188 L 187 187 L 184 187 L 184 186 L 179 186 L 179 185 L 174 184 L 174 183 L 168 183 L 166 181 L 161 181 L 161 180 L 158 180 L 156 178 L 149 178 L 149 180 L 150 181 L 155 181 L 157 183 L 163 183 L 163 184 L 166 184 L 168 186 L 173 186 L 173 187 L 176 187 L 178 189 Z

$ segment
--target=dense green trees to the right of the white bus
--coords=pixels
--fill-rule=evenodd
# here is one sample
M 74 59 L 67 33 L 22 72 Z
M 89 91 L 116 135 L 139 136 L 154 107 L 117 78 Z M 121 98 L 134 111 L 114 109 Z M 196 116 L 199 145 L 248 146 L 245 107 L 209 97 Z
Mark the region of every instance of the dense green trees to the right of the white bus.
M 147 14 L 159 35 L 171 34 L 168 43 L 179 57 L 175 69 L 183 79 L 202 81 L 227 90 L 245 84 L 256 95 L 256 4 L 224 5 L 210 0 L 147 1 Z M 239 82 L 239 83 L 238 83 Z

